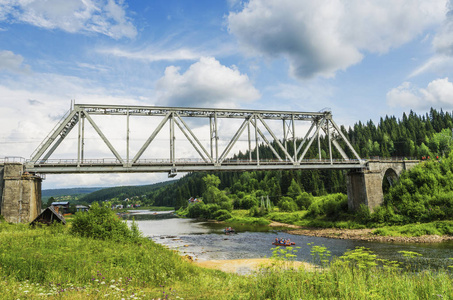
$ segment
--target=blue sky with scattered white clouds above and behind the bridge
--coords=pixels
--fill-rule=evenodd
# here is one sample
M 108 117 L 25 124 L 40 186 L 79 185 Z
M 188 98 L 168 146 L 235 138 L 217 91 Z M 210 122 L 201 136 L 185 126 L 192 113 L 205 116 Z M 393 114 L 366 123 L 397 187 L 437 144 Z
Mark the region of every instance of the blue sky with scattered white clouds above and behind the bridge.
M 0 0 L 0 157 L 28 158 L 76 103 L 453 110 L 447 0 Z M 74 186 L 75 175 L 46 187 Z M 81 185 L 159 181 L 91 175 Z

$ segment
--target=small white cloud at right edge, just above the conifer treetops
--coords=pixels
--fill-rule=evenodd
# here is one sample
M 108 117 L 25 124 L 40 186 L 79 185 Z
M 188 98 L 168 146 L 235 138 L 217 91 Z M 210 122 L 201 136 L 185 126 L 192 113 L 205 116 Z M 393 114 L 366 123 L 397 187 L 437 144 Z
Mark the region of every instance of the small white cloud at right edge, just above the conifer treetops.
M 387 93 L 387 103 L 393 107 L 452 109 L 453 83 L 447 77 L 436 79 L 424 89 L 410 82 L 404 82 Z

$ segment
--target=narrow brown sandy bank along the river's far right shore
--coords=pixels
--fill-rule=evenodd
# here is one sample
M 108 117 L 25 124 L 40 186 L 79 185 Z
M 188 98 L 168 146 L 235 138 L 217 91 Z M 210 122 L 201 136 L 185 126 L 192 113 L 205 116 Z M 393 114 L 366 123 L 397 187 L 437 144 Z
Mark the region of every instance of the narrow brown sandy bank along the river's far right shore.
M 338 228 L 306 228 L 296 225 L 272 222 L 269 226 L 286 227 L 290 234 L 317 236 L 335 239 L 376 241 L 376 242 L 395 242 L 395 243 L 439 243 L 453 241 L 453 236 L 423 235 L 414 237 L 405 236 L 379 236 L 374 235 L 374 229 L 338 229 Z

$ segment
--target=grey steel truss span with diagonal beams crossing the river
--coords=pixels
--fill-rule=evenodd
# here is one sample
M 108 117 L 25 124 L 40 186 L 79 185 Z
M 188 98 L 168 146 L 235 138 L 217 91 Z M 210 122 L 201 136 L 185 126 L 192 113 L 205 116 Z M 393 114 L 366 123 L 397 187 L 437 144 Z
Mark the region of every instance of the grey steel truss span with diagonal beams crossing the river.
M 95 122 L 93 116 L 126 116 L 125 144 L 126 155 L 121 156 Z M 141 116 L 155 118 L 160 123 L 155 128 L 141 128 L 147 132 L 147 139 L 141 148 L 130 155 L 129 119 Z M 204 118 L 209 122 L 209 136 L 197 136 L 195 129 L 188 125 L 188 120 Z M 231 130 L 241 123 L 234 135 L 226 143 L 219 143 L 224 127 Z M 236 120 L 229 125 L 229 120 Z M 239 122 L 237 120 L 240 120 Z M 277 136 L 275 126 L 270 122 L 280 121 L 283 130 Z M 99 135 L 112 153 L 111 158 L 89 159 L 85 157 L 85 127 L 86 123 Z M 300 126 L 305 125 L 305 126 Z M 308 131 L 299 130 L 301 127 Z M 168 131 L 164 128 L 169 128 Z M 298 129 L 296 132 L 296 128 Z M 67 159 L 52 159 L 51 156 L 63 140 L 73 130 L 77 130 L 77 155 Z M 197 153 L 197 157 L 177 157 L 178 145 L 175 132 L 179 131 Z M 236 128 L 233 128 L 233 131 Z M 165 131 L 165 132 L 164 132 Z M 300 131 L 300 132 L 299 132 Z M 161 159 L 146 157 L 145 151 L 155 147 L 156 136 L 164 135 L 168 142 L 169 158 Z M 282 134 L 283 133 L 283 134 Z M 328 149 L 321 149 L 320 138 L 328 140 Z M 239 138 L 245 139 L 248 145 L 248 159 L 232 159 L 233 147 Z M 201 141 L 208 141 L 204 144 Z M 223 140 L 222 140 L 223 141 Z M 153 143 L 154 142 L 154 143 Z M 345 149 L 352 153 L 349 158 Z M 290 145 L 292 144 L 292 145 Z M 226 145 L 226 146 L 225 146 Z M 274 158 L 260 159 L 259 145 L 266 145 L 272 151 Z M 290 145 L 290 147 L 288 147 Z M 317 158 L 306 158 L 310 147 L 318 147 Z M 337 151 L 332 151 L 332 148 Z M 289 151 L 288 149 L 293 149 Z M 295 149 L 295 151 L 294 151 Z M 328 158 L 322 158 L 324 151 Z M 195 153 L 194 152 L 194 153 Z M 334 158 L 332 153 L 339 153 Z M 75 151 L 74 151 L 75 153 Z M 253 159 L 252 159 L 252 153 Z M 74 154 L 75 155 L 75 154 Z M 119 105 L 88 105 L 74 104 L 56 127 L 43 140 L 25 164 L 25 170 L 30 173 L 59 174 L 59 173 L 121 173 L 121 172 L 168 172 L 173 177 L 177 172 L 196 171 L 250 171 L 250 170 L 291 170 L 291 169 L 363 169 L 366 161 L 362 160 L 340 128 L 332 119 L 330 111 L 321 112 L 290 112 L 290 111 L 263 111 L 239 109 L 203 109 L 156 106 L 119 106 Z

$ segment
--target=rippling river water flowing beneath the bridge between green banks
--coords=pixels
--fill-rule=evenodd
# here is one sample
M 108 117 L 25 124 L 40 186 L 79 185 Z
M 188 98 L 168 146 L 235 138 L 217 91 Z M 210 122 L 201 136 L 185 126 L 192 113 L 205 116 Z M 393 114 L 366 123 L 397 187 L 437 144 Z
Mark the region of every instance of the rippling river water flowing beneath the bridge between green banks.
M 137 211 L 126 219 L 134 217 L 138 227 L 156 243 L 178 250 L 198 260 L 223 260 L 271 257 L 276 237 L 290 238 L 296 243 L 296 260 L 313 262 L 311 246 L 325 246 L 331 257 L 339 257 L 356 247 L 369 248 L 379 258 L 404 262 L 398 251 L 414 251 L 422 254 L 412 263 L 422 267 L 445 268 L 453 264 L 453 242 L 431 244 L 382 243 L 342 240 L 303 235 L 291 235 L 268 226 L 234 225 L 236 234 L 223 233 L 225 224 L 203 222 L 174 217 L 171 212 Z

